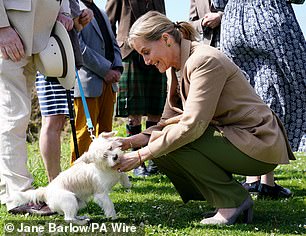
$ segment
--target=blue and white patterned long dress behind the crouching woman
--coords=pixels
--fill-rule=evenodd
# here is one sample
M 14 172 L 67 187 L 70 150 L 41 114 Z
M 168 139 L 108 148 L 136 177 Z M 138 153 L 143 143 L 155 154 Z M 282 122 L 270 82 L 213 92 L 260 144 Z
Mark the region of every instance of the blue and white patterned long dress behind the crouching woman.
M 306 151 L 305 143 L 300 145 L 306 133 L 306 42 L 291 4 L 286 0 L 229 0 L 220 43 L 280 117 L 292 150 Z

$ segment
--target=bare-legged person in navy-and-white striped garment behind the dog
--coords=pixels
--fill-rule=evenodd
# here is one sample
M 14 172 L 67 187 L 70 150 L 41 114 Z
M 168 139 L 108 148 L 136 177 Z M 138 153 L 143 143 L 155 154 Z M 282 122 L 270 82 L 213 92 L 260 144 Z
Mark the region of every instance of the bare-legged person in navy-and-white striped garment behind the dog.
M 57 19 L 63 25 L 68 20 L 72 22 L 67 30 L 73 46 L 76 68 L 80 68 L 83 60 L 77 32 L 91 21 L 93 13 L 89 9 L 81 11 L 77 0 L 69 0 L 69 7 L 71 14 L 60 14 Z M 54 77 L 45 78 L 39 74 L 35 84 L 42 115 L 39 148 L 48 181 L 51 182 L 61 171 L 61 132 L 69 114 L 67 94 L 66 89 Z M 73 89 L 71 93 L 73 98 Z

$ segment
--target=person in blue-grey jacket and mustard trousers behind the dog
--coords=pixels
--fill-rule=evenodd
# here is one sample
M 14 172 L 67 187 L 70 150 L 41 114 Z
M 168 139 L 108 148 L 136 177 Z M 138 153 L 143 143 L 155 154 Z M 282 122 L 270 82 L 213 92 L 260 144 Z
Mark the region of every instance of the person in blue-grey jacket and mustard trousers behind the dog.
M 94 14 L 93 20 L 79 33 L 83 66 L 78 73 L 94 126 L 94 136 L 98 136 L 112 130 L 117 83 L 123 71 L 122 59 L 106 13 L 93 0 L 82 0 L 80 5 L 81 9 L 88 8 Z M 92 140 L 87 130 L 77 83 L 74 88 L 74 109 L 78 149 L 82 155 L 88 150 Z M 76 153 L 71 139 L 71 162 L 75 160 Z

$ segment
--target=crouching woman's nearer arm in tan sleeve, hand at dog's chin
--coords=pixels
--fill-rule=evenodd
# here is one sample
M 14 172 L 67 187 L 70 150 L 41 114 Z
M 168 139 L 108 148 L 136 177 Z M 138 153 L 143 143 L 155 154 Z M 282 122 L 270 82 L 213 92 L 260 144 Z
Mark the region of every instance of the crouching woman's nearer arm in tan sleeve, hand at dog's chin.
M 214 117 L 227 73 L 215 58 L 195 60 L 187 65 L 190 89 L 180 120 L 151 134 L 147 146 L 123 155 L 115 169 L 128 171 L 141 162 L 161 157 L 199 138 Z M 184 69 L 185 70 L 185 69 Z M 140 158 L 139 158 L 140 156 Z

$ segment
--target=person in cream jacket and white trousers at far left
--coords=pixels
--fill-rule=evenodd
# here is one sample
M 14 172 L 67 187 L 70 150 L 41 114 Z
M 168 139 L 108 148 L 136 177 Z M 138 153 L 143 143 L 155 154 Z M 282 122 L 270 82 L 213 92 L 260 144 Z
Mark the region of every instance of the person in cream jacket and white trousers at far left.
M 70 13 L 67 0 L 0 0 L 0 200 L 10 213 L 52 213 L 44 204 L 16 206 L 9 199 L 14 191 L 33 188 L 26 129 L 36 59 L 47 46 L 58 15 L 65 13 Z

